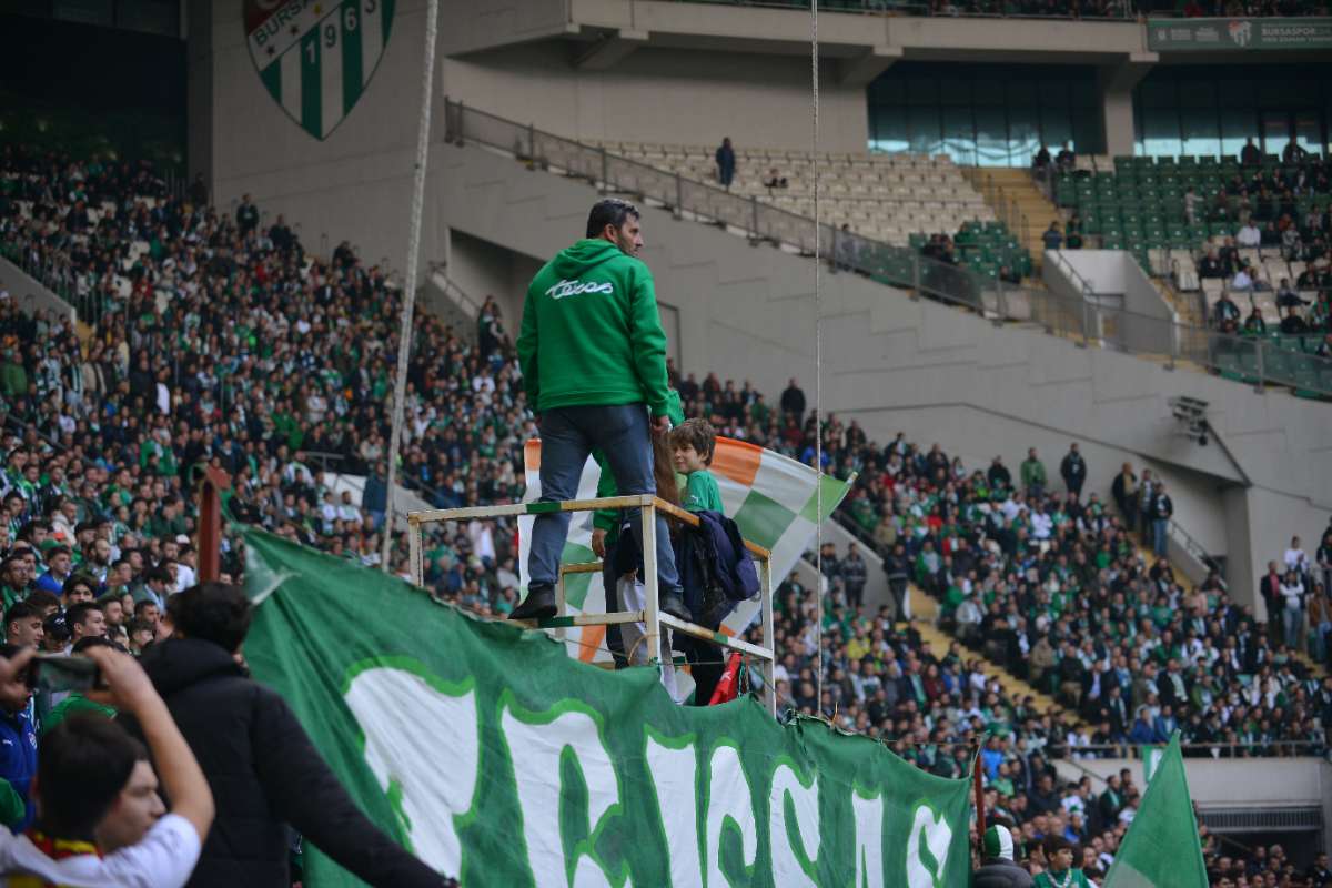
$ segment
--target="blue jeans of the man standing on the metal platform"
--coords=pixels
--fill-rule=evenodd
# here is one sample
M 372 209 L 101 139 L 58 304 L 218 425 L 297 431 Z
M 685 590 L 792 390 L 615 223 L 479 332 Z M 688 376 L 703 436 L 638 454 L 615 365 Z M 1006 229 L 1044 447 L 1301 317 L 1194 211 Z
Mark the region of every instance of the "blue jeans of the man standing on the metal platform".
M 578 497 L 578 479 L 593 450 L 606 454 L 622 495 L 655 494 L 653 443 L 647 407 L 626 403 L 611 407 L 554 407 L 541 414 L 541 502 L 561 502 Z M 635 530 L 638 509 L 625 515 Z M 527 575 L 533 586 L 554 586 L 559 576 L 559 554 L 569 538 L 567 511 L 537 515 L 531 525 L 531 551 Z M 658 591 L 679 592 L 675 553 L 670 545 L 666 517 L 657 513 Z M 607 607 L 615 590 L 606 590 Z

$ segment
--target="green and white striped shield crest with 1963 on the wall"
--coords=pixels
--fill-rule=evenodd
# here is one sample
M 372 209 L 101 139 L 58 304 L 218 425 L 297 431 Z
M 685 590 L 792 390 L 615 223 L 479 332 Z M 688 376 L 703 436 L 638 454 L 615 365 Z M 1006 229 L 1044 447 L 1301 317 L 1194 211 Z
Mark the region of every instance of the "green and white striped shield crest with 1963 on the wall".
M 245 0 L 245 43 L 264 88 L 324 140 L 384 57 L 396 0 Z

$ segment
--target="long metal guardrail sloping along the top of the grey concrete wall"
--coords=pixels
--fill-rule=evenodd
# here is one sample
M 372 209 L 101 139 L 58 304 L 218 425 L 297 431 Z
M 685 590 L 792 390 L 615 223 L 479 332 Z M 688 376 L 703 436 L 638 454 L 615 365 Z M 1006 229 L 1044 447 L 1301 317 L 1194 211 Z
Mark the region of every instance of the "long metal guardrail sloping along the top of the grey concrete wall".
M 685 178 L 681 173 L 649 166 L 542 132 L 445 99 L 445 138 L 500 149 L 533 169 L 583 178 L 602 192 L 633 194 L 690 217 L 721 225 L 753 242 L 770 242 L 805 256 L 814 253 L 814 220 L 741 196 L 718 185 Z M 939 262 L 919 252 L 891 246 L 834 225 L 819 226 L 819 244 L 836 270 L 854 272 L 880 284 L 904 288 L 915 296 L 947 302 L 999 324 L 1036 324 L 1054 335 L 1083 346 L 1130 354 L 1189 361 L 1231 378 L 1289 386 L 1332 397 L 1332 359 L 1279 350 L 1245 337 L 1130 312 L 1084 297 L 1066 297 L 1044 289 L 1011 285 L 970 269 Z M 1280 351 L 1280 354 L 1277 354 Z

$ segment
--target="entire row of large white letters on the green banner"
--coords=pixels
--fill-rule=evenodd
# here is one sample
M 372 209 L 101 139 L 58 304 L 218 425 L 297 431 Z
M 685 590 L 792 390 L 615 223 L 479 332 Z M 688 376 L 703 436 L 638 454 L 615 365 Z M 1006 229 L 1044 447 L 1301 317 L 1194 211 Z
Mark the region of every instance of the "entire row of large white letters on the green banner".
M 366 766 L 388 797 L 409 847 L 434 869 L 458 872 L 462 851 L 456 821 L 474 811 L 481 779 L 476 691 L 470 683 L 445 683 L 410 666 L 376 664 L 350 680 L 344 699 L 365 735 Z M 595 853 L 595 841 L 602 828 L 621 815 L 651 815 L 622 811 L 619 776 L 594 715 L 570 700 L 539 715 L 503 703 L 500 730 L 513 762 L 526 859 L 537 888 L 633 888 L 627 871 L 607 871 Z M 421 755 L 422 750 L 448 750 L 448 767 L 438 767 L 436 760 Z M 561 799 L 570 789 L 561 768 L 566 750 L 587 791 L 587 821 L 563 824 L 575 825 L 574 832 L 585 836 L 569 848 L 563 847 L 559 820 Z M 755 800 L 739 750 L 717 746 L 705 766 L 702 785 L 699 750 L 689 736 L 667 738 L 647 728 L 643 758 L 665 831 L 669 884 L 729 888 L 722 844 L 723 836 L 731 833 L 734 837 L 726 841 L 729 853 L 734 855 L 738 845 L 739 855 L 727 857 L 726 869 L 739 880 L 753 875 L 758 859 Z M 773 884 L 817 885 L 822 839 L 818 779 L 811 776 L 806 784 L 798 766 L 789 762 L 774 766 L 767 799 Z M 506 779 L 506 775 L 488 775 L 488 779 Z M 707 809 L 701 812 L 705 793 Z M 851 812 L 855 869 L 846 881 L 854 888 L 884 888 L 884 797 L 855 787 Z M 702 841 L 699 813 L 705 827 Z M 890 884 L 947 888 L 944 868 L 951 844 L 947 819 L 927 803 L 915 805 L 906 847 L 906 877 L 902 881 L 894 877 Z M 838 869 L 844 865 L 835 863 Z M 735 872 L 737 867 L 746 872 Z M 654 885 L 667 884 L 661 873 L 654 872 L 651 879 Z

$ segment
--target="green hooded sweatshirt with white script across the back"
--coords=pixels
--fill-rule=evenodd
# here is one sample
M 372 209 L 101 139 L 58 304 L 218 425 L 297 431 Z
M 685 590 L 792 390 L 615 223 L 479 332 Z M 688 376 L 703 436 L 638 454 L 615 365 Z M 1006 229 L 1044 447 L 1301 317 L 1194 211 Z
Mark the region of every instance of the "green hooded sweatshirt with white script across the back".
M 527 286 L 518 334 L 527 405 L 646 403 L 666 414 L 666 333 L 647 266 L 603 240 L 582 240 Z

